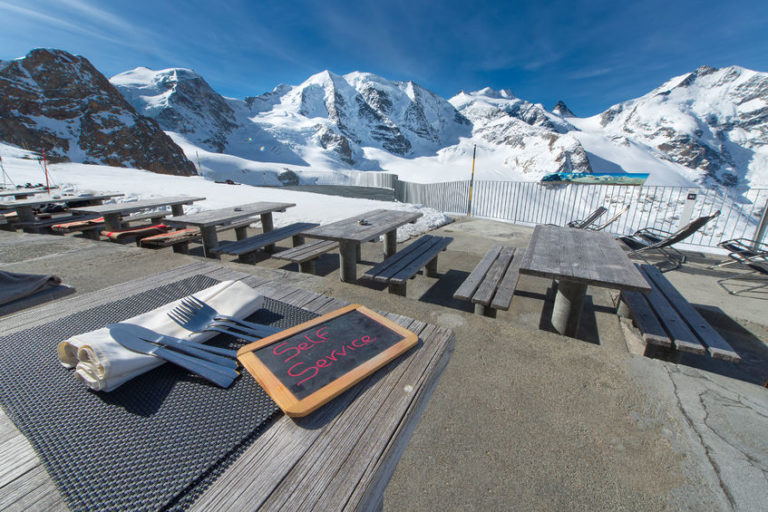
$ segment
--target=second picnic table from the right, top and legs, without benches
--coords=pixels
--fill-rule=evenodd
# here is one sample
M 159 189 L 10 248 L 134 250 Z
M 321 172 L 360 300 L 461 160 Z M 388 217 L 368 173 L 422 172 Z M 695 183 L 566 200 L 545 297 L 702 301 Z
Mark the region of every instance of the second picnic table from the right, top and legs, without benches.
M 341 280 L 357 282 L 357 262 L 360 244 L 384 235 L 384 257 L 397 252 L 397 228 L 421 217 L 420 212 L 373 210 L 370 212 L 318 226 L 304 236 L 339 242 Z

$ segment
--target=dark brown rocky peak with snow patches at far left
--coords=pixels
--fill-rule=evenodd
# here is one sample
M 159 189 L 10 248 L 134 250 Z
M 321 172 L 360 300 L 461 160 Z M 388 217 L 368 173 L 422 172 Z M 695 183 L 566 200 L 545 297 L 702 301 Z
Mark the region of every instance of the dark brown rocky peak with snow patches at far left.
M 194 165 L 87 59 L 38 49 L 0 62 L 0 140 L 52 162 L 136 167 L 190 176 Z

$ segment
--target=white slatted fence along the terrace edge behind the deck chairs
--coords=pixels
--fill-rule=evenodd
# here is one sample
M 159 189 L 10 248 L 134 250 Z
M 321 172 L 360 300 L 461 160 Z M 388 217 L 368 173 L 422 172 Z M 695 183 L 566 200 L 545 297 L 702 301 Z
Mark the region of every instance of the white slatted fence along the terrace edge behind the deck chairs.
M 693 195 L 691 195 L 693 194 Z M 469 181 L 446 183 L 395 182 L 395 198 L 446 213 L 466 215 Z M 653 227 L 675 231 L 689 220 L 720 210 L 720 216 L 686 240 L 691 245 L 716 247 L 730 238 L 757 239 L 765 235 L 768 189 L 752 189 L 732 197 L 710 189 L 637 187 L 626 185 L 542 185 L 535 182 L 476 181 L 472 191 L 474 217 L 516 224 L 565 225 L 583 219 L 600 206 L 605 221 L 625 206 L 628 210 L 606 231 L 630 234 Z M 762 222 L 761 222 L 762 221 Z

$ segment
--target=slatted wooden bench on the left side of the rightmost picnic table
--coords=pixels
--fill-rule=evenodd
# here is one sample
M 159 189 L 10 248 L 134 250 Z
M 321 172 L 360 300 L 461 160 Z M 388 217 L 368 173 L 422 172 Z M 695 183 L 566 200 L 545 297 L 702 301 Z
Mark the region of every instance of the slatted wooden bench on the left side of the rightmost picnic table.
M 499 309 L 507 311 L 512 304 L 523 261 L 522 254 L 517 258 L 514 255 L 514 247 L 491 247 L 453 298 L 472 302 L 476 314 L 490 318 L 495 318 Z

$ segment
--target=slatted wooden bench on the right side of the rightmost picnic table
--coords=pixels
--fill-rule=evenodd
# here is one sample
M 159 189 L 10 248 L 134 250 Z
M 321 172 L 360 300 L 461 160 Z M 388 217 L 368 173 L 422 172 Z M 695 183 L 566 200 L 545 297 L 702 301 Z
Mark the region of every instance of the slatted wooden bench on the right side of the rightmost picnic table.
M 642 333 L 645 353 L 693 352 L 740 362 L 741 356 L 653 265 L 638 265 L 651 293 L 621 292 L 620 316 L 631 318 Z

